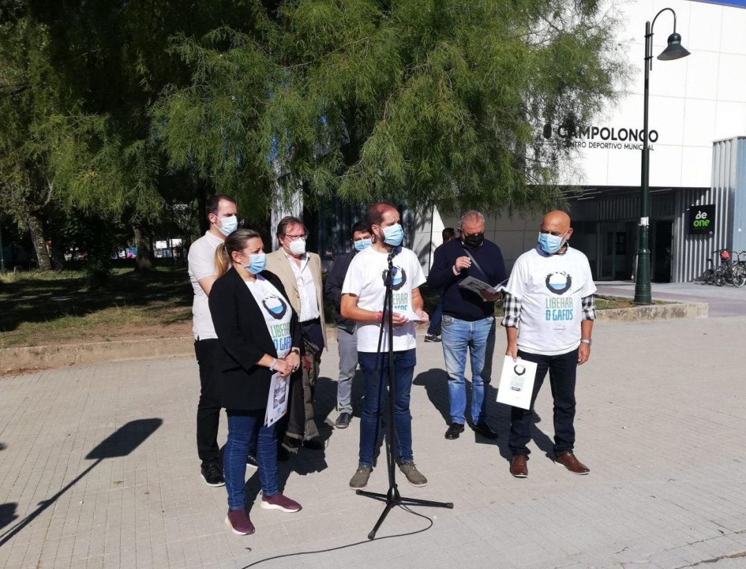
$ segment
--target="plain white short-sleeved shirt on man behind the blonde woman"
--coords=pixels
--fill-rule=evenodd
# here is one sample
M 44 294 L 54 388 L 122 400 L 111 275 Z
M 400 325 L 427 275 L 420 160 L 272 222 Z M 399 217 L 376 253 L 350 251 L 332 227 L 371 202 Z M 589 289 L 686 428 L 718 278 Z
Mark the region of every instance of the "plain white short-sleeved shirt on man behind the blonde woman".
M 195 340 L 209 340 L 218 337 L 213 326 L 213 317 L 210 315 L 210 306 L 207 304 L 207 295 L 199 286 L 199 280 L 218 274 L 218 268 L 215 266 L 215 251 L 222 242 L 222 239 L 207 231 L 192 243 L 186 257 L 189 263 L 189 281 L 192 283 L 192 289 L 194 289 L 192 333 L 194 333 Z

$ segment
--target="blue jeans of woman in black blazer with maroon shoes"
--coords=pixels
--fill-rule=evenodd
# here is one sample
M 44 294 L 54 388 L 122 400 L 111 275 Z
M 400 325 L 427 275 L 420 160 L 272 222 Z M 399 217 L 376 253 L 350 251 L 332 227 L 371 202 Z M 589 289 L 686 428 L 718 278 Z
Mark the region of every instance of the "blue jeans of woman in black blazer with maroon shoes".
M 265 409 L 245 411 L 225 409 L 228 414 L 228 441 L 223 450 L 223 475 L 228 491 L 228 509 L 246 507 L 246 454 L 257 450 L 259 480 L 265 496 L 278 493 L 278 439 L 275 426 L 264 426 Z

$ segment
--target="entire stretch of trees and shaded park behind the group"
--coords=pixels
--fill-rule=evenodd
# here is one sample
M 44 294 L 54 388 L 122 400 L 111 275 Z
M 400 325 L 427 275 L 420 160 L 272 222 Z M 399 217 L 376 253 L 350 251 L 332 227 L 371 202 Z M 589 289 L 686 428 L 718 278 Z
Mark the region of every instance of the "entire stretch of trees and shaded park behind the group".
M 556 207 L 572 149 L 542 126 L 620 92 L 617 30 L 596 0 L 0 1 L 0 332 L 186 307 L 163 282 L 215 193 L 264 234 L 297 197 Z

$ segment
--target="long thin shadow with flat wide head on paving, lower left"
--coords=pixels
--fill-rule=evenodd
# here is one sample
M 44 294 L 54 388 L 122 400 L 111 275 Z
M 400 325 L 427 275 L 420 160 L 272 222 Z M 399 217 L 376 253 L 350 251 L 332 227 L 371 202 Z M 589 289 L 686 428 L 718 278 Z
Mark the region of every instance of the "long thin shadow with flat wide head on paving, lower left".
M 13 536 L 20 532 L 23 528 L 25 528 L 25 526 L 31 524 L 34 519 L 36 519 L 49 506 L 54 504 L 66 491 L 80 482 L 83 477 L 86 476 L 86 474 L 88 474 L 90 471 L 93 470 L 93 468 L 98 465 L 99 462 L 104 459 L 113 459 L 121 456 L 128 456 L 128 454 L 132 453 L 137 447 L 139 447 L 146 438 L 151 436 L 155 432 L 155 430 L 160 427 L 161 424 L 163 424 L 163 419 L 160 418 L 137 419 L 136 421 L 125 423 L 124 425 L 122 425 L 122 427 L 119 427 L 119 429 L 111 433 L 110 436 L 104 438 L 103 441 L 98 443 L 93 448 L 93 450 L 91 450 L 90 453 L 86 455 L 87 460 L 95 459 L 95 462 L 93 462 L 92 465 L 81 472 L 81 474 L 78 474 L 78 476 L 75 477 L 74 480 L 69 482 L 64 488 L 58 491 L 57 494 L 54 494 L 54 496 L 41 501 L 38 504 L 39 507 L 35 509 L 34 512 L 31 512 L 31 514 L 27 515 L 17 524 L 10 527 L 10 529 L 8 529 L 6 532 L 0 534 L 0 547 L 6 544 L 7 541 L 10 541 L 10 539 L 13 538 Z M 8 506 L 11 506 L 12 510 L 8 508 Z M 17 517 L 13 515 L 15 509 L 16 504 L 4 504 L 3 506 L 0 506 L 0 527 L 7 525 Z M 9 511 L 9 515 L 13 516 L 12 518 L 6 518 L 7 511 Z M 4 524 L 2 524 L 3 521 L 5 522 Z

